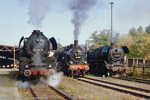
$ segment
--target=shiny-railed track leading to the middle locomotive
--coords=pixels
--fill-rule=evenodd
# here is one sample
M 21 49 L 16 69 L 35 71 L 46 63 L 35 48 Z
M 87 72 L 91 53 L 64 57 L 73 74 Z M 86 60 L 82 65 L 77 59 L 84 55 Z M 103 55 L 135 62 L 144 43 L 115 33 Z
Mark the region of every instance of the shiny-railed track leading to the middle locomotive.
M 143 89 L 139 87 L 133 87 L 129 85 L 123 85 L 116 82 L 110 82 L 103 79 L 97 79 L 93 77 L 84 77 L 84 78 L 78 78 L 79 81 L 83 81 L 86 83 L 94 84 L 97 86 L 102 86 L 105 88 L 117 90 L 124 93 L 129 93 L 135 96 L 139 96 L 142 98 L 150 99 L 150 90 L 149 89 Z

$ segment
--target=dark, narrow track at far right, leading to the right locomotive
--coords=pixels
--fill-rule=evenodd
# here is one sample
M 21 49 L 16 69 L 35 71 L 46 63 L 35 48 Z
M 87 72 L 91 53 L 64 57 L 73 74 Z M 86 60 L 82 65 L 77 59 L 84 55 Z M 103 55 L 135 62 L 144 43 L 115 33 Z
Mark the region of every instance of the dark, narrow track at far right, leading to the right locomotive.
M 113 77 L 116 78 L 116 77 Z M 150 84 L 150 80 L 148 79 L 137 79 L 137 78 L 116 78 L 116 79 L 122 79 L 122 80 L 127 80 L 127 81 L 135 81 L 135 82 L 139 82 L 139 83 L 145 83 L 145 84 Z

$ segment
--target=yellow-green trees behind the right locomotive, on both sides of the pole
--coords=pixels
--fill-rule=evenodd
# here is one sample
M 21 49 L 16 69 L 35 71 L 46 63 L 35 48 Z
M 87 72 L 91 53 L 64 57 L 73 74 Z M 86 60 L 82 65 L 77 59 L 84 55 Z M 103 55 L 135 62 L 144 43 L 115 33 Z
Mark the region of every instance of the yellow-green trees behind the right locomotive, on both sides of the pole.
M 130 53 L 129 58 L 150 59 L 150 25 L 146 27 L 146 32 L 142 26 L 131 28 L 128 34 L 115 34 L 116 45 L 127 46 Z M 121 35 L 121 36 L 120 36 Z M 87 40 L 92 44 L 91 48 L 97 48 L 110 45 L 110 30 L 95 31 Z

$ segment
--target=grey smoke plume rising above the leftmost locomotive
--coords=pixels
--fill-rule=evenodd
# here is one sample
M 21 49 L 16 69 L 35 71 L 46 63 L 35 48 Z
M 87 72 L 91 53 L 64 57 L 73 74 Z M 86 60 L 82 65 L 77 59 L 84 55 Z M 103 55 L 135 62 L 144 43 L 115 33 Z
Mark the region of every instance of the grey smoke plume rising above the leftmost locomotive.
M 36 29 L 42 27 L 45 16 L 50 11 L 51 0 L 30 0 L 29 1 L 29 21 Z

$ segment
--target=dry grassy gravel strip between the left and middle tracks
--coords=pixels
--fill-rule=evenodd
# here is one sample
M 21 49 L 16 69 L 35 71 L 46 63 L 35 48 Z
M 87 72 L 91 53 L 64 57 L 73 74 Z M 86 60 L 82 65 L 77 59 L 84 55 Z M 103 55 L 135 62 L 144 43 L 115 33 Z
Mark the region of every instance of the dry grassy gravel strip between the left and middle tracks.
M 80 82 L 77 79 L 63 77 L 58 89 L 75 100 L 146 100 L 130 94 Z

